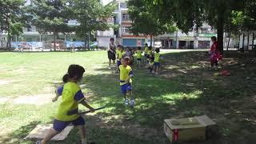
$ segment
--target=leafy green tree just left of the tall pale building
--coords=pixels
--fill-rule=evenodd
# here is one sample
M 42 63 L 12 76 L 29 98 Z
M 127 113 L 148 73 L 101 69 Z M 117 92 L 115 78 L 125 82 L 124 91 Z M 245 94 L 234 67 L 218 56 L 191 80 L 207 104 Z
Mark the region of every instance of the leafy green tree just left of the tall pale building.
M 71 7 L 74 10 L 74 18 L 79 23 L 79 26 L 75 28 L 76 34 L 81 38 L 86 38 L 86 35 L 90 36 L 92 31 L 110 28 L 107 19 L 113 16 L 112 12 L 116 5 L 110 2 L 103 6 L 99 0 L 74 0 Z

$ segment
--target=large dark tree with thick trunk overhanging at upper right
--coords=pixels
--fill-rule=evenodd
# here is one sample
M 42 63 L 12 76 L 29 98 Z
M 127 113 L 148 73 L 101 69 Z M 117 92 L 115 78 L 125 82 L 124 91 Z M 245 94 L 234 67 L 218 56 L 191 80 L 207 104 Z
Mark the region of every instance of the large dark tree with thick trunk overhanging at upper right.
M 202 22 L 217 28 L 219 50 L 223 51 L 224 27 L 229 25 L 232 10 L 242 10 L 245 2 L 234 0 L 144 0 L 163 23 L 174 21 L 184 32 L 198 29 Z M 251 0 L 253 1 L 253 0 Z

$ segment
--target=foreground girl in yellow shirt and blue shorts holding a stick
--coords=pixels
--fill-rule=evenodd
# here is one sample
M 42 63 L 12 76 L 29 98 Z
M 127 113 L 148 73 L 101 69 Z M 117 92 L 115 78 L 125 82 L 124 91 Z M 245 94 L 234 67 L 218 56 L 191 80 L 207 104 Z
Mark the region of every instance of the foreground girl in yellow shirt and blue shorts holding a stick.
M 51 138 L 62 132 L 66 126 L 69 126 L 70 123 L 78 126 L 82 144 L 87 144 L 85 120 L 78 114 L 78 103 L 86 106 L 92 112 L 94 112 L 94 108 L 85 101 L 86 98 L 77 84 L 77 82 L 82 80 L 84 72 L 85 69 L 82 66 L 70 65 L 68 73 L 63 76 L 63 82 L 66 82 L 66 84 L 56 90 L 57 97 L 53 99 L 55 102 L 62 95 L 62 102 L 60 102 L 54 118 L 54 126 L 46 137 L 42 141 L 36 142 L 36 144 L 46 144 L 47 141 L 50 141 Z

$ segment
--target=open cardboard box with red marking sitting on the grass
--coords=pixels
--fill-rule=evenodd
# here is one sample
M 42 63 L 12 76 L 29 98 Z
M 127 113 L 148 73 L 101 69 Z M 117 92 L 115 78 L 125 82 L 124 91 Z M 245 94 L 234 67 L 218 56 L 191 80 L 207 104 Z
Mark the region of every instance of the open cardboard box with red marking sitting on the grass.
M 206 115 L 194 118 L 174 118 L 164 120 L 164 131 L 170 142 L 203 141 L 206 139 L 206 128 L 216 125 Z

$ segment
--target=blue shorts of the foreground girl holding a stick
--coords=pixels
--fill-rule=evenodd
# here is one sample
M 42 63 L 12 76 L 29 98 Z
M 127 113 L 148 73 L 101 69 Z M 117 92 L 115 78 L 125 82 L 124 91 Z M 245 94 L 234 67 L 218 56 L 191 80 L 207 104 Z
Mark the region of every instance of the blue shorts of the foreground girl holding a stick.
M 82 116 L 75 119 L 74 121 L 59 121 L 57 119 L 54 119 L 54 130 L 62 132 L 62 130 L 64 130 L 66 126 L 69 126 L 70 123 L 72 123 L 74 126 L 84 126 L 86 124 Z

